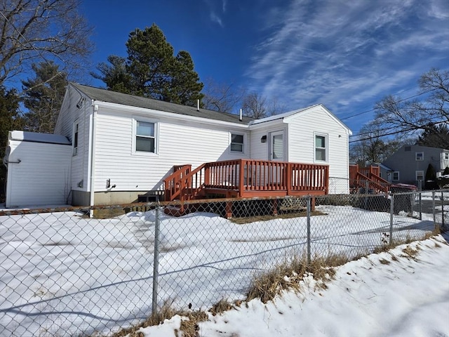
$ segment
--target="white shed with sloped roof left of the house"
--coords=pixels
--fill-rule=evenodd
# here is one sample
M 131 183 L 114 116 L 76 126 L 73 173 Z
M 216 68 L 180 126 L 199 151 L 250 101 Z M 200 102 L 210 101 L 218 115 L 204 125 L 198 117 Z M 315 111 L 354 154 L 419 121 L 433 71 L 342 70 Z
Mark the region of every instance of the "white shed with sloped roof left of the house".
M 10 131 L 6 207 L 67 204 L 72 145 L 65 136 Z

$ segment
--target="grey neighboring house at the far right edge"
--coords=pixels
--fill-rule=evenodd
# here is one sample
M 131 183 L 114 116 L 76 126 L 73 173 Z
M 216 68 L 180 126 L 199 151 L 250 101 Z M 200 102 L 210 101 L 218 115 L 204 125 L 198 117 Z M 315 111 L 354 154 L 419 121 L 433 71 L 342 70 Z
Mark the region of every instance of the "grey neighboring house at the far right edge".
M 424 180 L 427 168 L 431 164 L 436 176 L 441 176 L 449 166 L 449 150 L 438 147 L 406 145 L 397 150 L 382 162 L 382 178 L 391 183 L 413 184 L 425 187 Z

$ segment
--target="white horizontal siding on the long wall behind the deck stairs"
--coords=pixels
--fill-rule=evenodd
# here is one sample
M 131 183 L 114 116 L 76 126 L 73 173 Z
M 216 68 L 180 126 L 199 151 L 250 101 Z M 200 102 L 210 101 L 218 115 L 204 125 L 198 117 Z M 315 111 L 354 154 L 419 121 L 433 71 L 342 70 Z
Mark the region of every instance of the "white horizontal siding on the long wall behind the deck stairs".
M 157 124 L 156 153 L 133 151 L 133 119 Z M 108 179 L 111 186 L 115 185 L 109 189 L 111 192 L 163 190 L 163 178 L 173 172 L 174 165 L 192 164 L 195 169 L 208 161 L 249 158 L 248 144 L 243 154 L 229 151 L 233 131 L 235 128 L 211 129 L 181 119 L 153 118 L 151 112 L 130 117 L 128 112 L 100 105 L 95 136 L 95 192 L 107 192 Z M 248 132 L 238 132 L 246 135 L 248 143 Z

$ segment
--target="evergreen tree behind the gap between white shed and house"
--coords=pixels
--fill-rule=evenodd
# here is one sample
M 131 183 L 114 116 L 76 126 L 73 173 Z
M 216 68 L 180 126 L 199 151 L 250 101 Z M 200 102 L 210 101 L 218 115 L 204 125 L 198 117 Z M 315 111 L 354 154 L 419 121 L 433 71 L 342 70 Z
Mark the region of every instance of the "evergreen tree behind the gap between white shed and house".
M 25 130 L 53 133 L 67 86 L 67 74 L 53 62 L 33 64 L 34 79 L 22 81 Z

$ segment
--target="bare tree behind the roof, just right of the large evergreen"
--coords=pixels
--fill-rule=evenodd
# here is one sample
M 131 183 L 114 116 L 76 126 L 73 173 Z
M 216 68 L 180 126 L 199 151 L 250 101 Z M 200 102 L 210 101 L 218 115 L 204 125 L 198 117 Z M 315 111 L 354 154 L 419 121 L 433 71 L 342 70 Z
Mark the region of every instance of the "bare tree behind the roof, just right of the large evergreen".
M 205 81 L 202 106 L 208 110 L 233 112 L 243 99 L 246 91 L 233 84 L 218 83 L 212 78 Z

